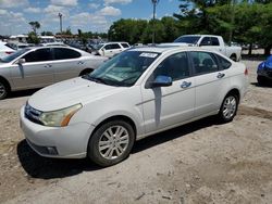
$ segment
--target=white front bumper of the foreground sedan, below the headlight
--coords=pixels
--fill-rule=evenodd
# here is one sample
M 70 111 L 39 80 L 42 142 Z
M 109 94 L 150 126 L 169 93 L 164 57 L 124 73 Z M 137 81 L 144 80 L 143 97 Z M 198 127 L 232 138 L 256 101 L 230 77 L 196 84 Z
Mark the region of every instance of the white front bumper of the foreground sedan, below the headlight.
M 66 127 L 46 127 L 25 117 L 21 109 L 20 125 L 29 146 L 41 156 L 60 158 L 83 158 L 95 127 L 77 123 Z

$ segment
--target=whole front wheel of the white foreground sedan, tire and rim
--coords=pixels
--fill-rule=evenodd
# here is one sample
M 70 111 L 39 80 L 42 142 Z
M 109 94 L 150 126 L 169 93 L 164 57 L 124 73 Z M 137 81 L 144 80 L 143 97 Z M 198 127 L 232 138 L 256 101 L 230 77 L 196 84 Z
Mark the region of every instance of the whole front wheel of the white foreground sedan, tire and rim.
M 99 166 L 111 166 L 128 157 L 135 141 L 135 131 L 124 120 L 102 124 L 88 144 L 89 158 Z

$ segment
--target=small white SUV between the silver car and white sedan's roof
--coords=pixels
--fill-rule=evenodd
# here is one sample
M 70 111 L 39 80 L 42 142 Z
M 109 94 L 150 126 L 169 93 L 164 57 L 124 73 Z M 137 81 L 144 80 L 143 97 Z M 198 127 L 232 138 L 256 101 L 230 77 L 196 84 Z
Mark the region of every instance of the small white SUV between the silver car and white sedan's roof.
M 107 42 L 97 47 L 96 54 L 112 58 L 128 48 L 131 48 L 131 46 L 127 42 Z

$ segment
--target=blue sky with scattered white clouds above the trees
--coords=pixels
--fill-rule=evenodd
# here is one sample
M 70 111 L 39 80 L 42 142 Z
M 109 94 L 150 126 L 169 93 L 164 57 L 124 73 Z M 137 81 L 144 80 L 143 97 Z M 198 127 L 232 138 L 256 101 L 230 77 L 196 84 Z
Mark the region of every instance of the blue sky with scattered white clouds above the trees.
M 178 0 L 160 0 L 157 17 L 178 13 Z M 0 0 L 0 35 L 30 31 L 29 22 L 39 22 L 38 31 L 60 31 L 59 13 L 63 15 L 63 30 L 72 33 L 108 31 L 120 18 L 152 17 L 151 0 Z

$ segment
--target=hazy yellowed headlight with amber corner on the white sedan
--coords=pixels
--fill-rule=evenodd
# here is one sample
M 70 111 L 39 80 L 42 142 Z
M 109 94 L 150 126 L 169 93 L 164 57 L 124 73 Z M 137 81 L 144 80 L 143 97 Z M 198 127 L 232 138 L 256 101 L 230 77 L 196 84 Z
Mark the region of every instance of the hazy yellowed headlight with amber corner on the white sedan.
M 76 104 L 58 111 L 44 112 L 39 116 L 39 120 L 45 126 L 64 127 L 69 125 L 70 119 L 79 109 L 82 109 L 82 104 Z

